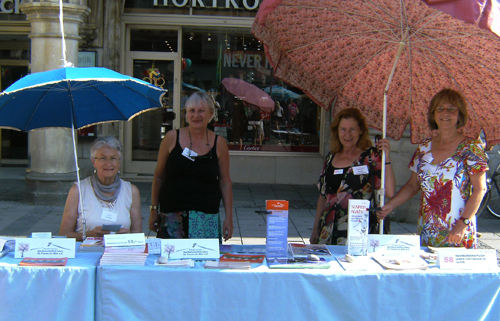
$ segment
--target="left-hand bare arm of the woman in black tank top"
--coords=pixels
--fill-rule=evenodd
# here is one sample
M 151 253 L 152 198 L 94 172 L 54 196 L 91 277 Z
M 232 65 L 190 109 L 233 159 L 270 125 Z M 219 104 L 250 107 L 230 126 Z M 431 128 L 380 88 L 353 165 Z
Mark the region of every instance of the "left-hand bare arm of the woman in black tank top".
M 161 141 L 160 150 L 158 151 L 158 161 L 153 176 L 153 185 L 151 187 L 151 205 L 153 206 L 158 206 L 160 202 L 160 190 L 165 182 L 168 156 L 175 146 L 176 139 L 177 131 L 170 130 Z M 152 209 L 149 214 L 149 229 L 158 232 L 158 223 L 158 208 Z

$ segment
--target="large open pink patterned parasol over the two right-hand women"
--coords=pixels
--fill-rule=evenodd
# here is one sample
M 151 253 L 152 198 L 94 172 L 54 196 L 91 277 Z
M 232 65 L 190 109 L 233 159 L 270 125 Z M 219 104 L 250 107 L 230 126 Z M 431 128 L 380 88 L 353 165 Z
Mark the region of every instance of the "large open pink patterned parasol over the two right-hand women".
M 399 140 L 410 124 L 412 143 L 431 137 L 428 104 L 448 87 L 469 103 L 463 132 L 483 129 L 489 145 L 500 142 L 500 38 L 479 28 L 494 29 L 498 8 L 427 2 L 476 22 L 419 0 L 264 0 L 252 32 L 277 77 L 327 109 L 359 108 L 384 136 Z M 460 15 L 465 4 L 477 10 Z

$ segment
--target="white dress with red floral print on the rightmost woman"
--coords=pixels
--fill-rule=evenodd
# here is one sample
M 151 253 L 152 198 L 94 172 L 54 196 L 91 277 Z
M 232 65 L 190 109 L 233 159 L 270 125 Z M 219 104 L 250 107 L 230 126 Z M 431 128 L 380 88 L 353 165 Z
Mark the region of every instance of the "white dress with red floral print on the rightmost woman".
M 480 140 L 465 138 L 457 150 L 440 164 L 433 162 L 431 141 L 419 144 L 409 168 L 416 172 L 422 194 L 418 233 L 422 246 L 455 246 L 445 242 L 460 219 L 471 193 L 470 176 L 488 170 L 487 156 Z M 470 220 L 458 246 L 476 248 L 476 217 Z

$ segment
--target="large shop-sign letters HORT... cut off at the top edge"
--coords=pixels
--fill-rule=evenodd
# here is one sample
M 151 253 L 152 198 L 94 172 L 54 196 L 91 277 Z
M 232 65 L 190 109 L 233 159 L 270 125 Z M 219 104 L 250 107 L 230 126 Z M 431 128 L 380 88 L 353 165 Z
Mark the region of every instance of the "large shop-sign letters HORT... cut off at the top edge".
M 260 0 L 153 0 L 154 6 L 174 5 L 175 7 L 193 7 L 193 8 L 219 8 L 219 9 L 242 9 L 243 6 L 246 10 L 256 10 L 259 7 Z M 225 2 L 225 3 L 224 3 Z M 238 4 L 239 3 L 239 4 Z

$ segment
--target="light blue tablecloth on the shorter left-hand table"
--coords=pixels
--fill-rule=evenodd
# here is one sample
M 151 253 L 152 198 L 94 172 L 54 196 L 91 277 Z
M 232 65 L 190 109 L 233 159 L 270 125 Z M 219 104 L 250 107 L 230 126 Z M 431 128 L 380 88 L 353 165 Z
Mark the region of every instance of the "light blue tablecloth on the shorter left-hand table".
M 94 320 L 95 273 L 102 253 L 76 253 L 66 266 L 18 266 L 0 259 L 0 320 Z

